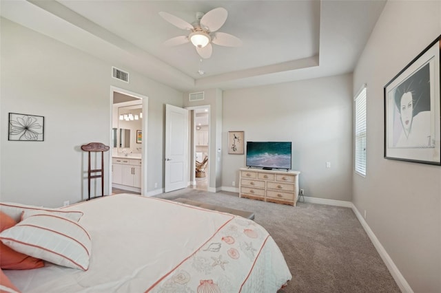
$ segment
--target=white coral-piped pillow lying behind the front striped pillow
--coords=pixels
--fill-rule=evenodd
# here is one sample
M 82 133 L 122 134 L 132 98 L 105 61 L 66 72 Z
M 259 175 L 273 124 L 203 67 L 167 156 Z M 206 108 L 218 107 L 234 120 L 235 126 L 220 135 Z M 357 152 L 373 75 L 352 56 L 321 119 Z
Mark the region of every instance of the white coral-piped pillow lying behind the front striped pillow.
M 21 214 L 25 210 L 45 210 L 47 212 L 52 212 L 61 217 L 68 217 L 74 221 L 79 221 L 83 216 L 83 212 L 79 210 L 61 210 L 59 208 L 43 208 L 41 206 L 29 206 L 25 204 L 15 204 L 11 202 L 0 202 L 0 210 L 3 213 L 8 214 L 16 222 L 20 221 Z

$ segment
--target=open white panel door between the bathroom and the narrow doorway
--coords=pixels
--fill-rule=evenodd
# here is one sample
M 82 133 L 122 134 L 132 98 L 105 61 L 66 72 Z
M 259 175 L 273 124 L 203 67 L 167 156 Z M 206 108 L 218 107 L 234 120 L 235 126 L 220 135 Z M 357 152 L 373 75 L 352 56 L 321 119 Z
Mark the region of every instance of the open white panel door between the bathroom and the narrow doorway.
M 165 105 L 165 186 L 164 191 L 187 187 L 187 109 Z

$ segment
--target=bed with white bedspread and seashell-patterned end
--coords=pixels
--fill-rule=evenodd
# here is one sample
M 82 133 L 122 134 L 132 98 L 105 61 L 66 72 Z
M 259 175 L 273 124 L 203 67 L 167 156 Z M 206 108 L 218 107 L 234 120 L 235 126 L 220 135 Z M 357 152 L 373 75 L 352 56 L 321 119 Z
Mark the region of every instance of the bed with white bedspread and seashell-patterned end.
M 21 292 L 276 292 L 291 279 L 274 239 L 243 217 L 130 194 L 60 210 L 81 213 L 70 224 L 87 234 L 88 257 L 71 268 L 45 261 L 3 270 Z M 5 231 L 0 239 L 9 246 Z

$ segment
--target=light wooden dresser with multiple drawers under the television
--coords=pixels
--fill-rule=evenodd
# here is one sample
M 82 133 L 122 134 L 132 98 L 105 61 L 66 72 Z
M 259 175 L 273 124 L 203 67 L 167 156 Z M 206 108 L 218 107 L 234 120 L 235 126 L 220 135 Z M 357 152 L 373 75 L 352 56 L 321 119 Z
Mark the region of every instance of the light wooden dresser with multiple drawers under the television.
M 299 171 L 240 168 L 239 197 L 296 206 Z

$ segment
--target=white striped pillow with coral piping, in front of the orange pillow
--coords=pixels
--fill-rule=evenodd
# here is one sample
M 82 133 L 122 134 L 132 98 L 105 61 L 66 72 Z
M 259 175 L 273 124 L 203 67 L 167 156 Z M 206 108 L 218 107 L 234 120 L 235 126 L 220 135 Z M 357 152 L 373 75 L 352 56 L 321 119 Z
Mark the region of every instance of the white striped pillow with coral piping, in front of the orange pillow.
M 37 214 L 0 233 L 13 250 L 68 268 L 88 270 L 92 243 L 76 221 L 59 215 Z

